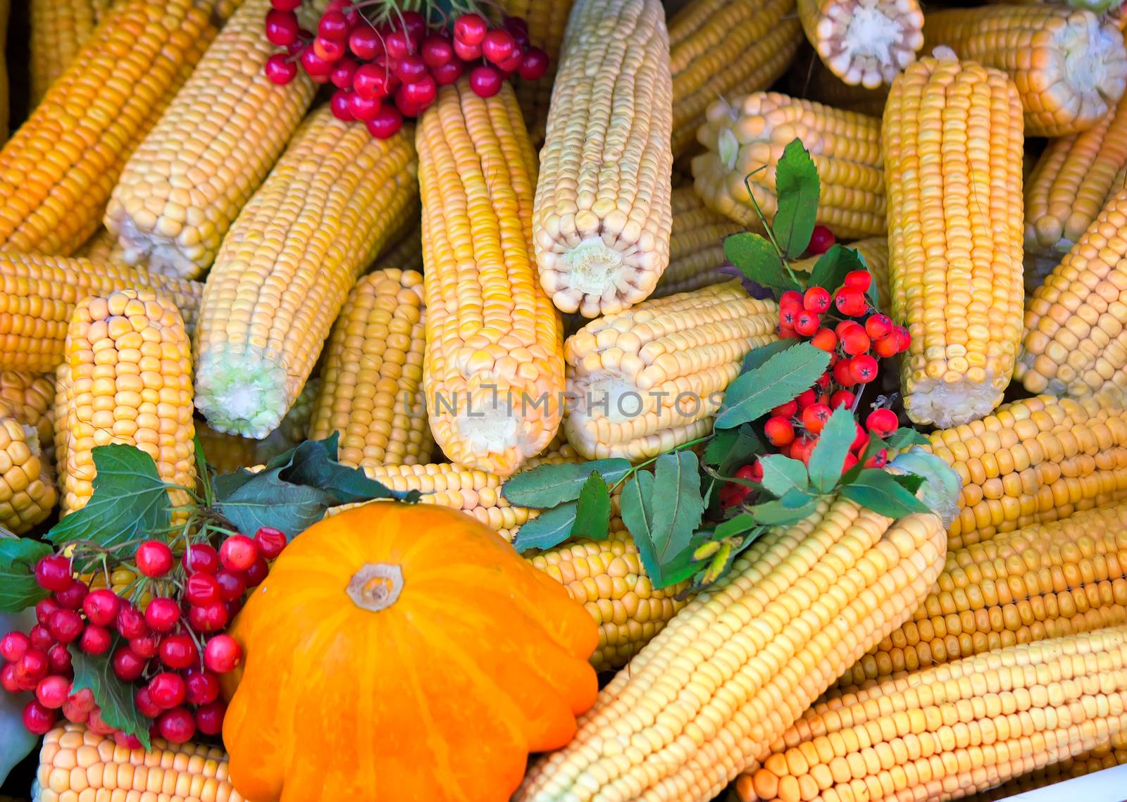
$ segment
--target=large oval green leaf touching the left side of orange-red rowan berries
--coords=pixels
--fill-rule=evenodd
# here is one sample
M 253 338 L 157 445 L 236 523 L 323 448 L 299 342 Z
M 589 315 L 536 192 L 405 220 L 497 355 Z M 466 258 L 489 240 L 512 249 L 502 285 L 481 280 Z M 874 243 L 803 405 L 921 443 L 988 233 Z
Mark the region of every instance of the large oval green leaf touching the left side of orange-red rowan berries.
M 731 429 L 755 420 L 808 390 L 829 365 L 829 354 L 800 342 L 775 354 L 728 385 L 716 428 Z

